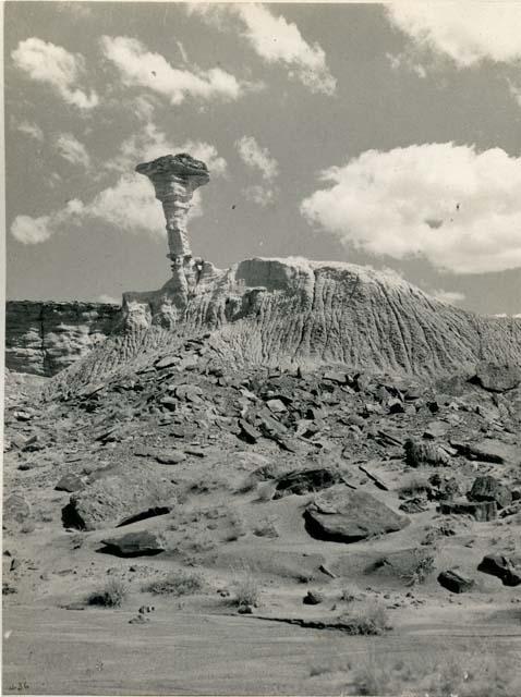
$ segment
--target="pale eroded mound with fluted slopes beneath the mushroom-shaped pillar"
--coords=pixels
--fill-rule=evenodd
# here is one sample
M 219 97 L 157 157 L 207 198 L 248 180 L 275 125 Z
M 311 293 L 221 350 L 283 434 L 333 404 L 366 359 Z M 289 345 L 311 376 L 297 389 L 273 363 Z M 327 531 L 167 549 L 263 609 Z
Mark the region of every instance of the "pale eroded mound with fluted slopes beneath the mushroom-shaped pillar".
M 60 376 L 85 384 L 205 337 L 205 358 L 230 365 L 318 366 L 439 376 L 477 363 L 521 364 L 521 321 L 480 317 L 407 281 L 350 264 L 246 259 L 202 267 L 187 302 L 170 280 L 126 293 L 121 331 Z

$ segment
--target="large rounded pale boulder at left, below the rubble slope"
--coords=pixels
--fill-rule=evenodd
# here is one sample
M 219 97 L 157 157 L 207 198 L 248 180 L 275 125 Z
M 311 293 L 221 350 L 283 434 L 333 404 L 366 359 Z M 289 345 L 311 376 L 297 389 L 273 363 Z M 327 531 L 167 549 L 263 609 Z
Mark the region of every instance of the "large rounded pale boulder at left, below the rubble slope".
M 71 494 L 62 510 L 65 527 L 80 530 L 116 526 L 149 517 L 175 500 L 175 485 L 155 467 L 109 470 L 82 491 Z

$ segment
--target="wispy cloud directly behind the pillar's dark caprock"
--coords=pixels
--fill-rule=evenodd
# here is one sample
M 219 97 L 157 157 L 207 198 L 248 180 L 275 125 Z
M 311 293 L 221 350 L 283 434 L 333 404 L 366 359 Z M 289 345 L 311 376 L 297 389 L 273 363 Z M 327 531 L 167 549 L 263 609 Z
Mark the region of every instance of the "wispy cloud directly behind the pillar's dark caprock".
M 155 123 L 147 123 L 143 130 L 133 135 L 120 146 L 120 154 L 106 162 L 106 168 L 120 172 L 134 170 L 138 162 L 154 160 L 162 155 L 177 152 L 189 152 L 196 160 L 203 160 L 210 174 L 222 175 L 227 170 L 227 161 L 220 157 L 214 145 L 202 140 L 186 140 L 182 144 L 174 144 L 167 135 L 159 131 Z

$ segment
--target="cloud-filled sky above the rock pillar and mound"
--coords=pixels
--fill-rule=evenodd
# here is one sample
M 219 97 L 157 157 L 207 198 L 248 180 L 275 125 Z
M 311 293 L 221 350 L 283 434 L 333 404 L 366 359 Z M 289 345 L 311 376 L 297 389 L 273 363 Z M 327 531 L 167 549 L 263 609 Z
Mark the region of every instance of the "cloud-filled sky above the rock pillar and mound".
M 210 182 L 194 255 L 392 269 L 521 313 L 521 3 L 4 7 L 8 299 L 169 278 L 138 162 Z

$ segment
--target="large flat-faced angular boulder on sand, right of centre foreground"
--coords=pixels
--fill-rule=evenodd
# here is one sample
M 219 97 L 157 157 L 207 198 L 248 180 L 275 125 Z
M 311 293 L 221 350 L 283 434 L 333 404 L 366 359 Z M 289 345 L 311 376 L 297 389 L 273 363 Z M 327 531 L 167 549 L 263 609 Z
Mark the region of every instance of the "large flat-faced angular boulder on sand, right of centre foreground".
M 305 510 L 304 521 L 312 537 L 336 542 L 396 533 L 410 523 L 369 493 L 341 485 L 318 494 Z

